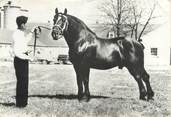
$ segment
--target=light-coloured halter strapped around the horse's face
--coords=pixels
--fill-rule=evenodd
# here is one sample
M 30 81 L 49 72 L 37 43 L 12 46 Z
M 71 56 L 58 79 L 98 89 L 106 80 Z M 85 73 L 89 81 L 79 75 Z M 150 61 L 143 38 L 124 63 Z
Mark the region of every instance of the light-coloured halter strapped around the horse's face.
M 57 35 L 58 35 L 58 37 L 60 36 L 60 38 L 61 38 L 62 35 L 64 34 L 64 31 L 67 31 L 67 29 L 68 29 L 68 19 L 62 13 L 58 13 L 58 17 L 59 16 L 60 16 L 60 18 L 58 18 L 56 20 L 52 31 L 58 32 Z M 65 21 L 63 21 L 63 18 L 65 19 Z M 60 21 L 62 21 L 62 23 L 60 23 Z

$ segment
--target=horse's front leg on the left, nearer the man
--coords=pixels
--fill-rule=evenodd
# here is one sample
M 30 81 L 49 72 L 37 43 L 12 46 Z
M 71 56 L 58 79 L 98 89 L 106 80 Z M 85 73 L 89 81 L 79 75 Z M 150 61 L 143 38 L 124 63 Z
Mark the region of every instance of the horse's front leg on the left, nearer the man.
M 80 68 L 79 65 L 73 65 L 75 72 L 76 72 L 76 77 L 77 77 L 77 86 L 78 86 L 78 100 L 81 100 L 83 97 L 83 80 L 80 74 Z

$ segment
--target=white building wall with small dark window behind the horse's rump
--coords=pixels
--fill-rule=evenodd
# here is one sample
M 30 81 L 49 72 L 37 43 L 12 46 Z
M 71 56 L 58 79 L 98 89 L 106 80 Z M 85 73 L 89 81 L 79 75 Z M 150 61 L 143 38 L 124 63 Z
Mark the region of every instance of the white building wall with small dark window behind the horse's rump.
M 143 37 L 146 65 L 170 65 L 170 24 L 166 23 Z M 157 56 L 151 55 L 151 48 L 157 48 Z

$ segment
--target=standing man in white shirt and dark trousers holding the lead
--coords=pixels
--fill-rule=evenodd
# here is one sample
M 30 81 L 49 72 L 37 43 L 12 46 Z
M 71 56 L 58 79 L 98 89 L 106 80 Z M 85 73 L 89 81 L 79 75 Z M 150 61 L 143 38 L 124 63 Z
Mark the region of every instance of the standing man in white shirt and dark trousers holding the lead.
M 25 107 L 28 102 L 28 72 L 29 60 L 33 60 L 28 56 L 28 42 L 32 39 L 34 28 L 30 33 L 26 34 L 26 23 L 28 17 L 19 16 L 16 18 L 18 29 L 13 33 L 13 53 L 14 68 L 17 78 L 16 86 L 16 106 Z

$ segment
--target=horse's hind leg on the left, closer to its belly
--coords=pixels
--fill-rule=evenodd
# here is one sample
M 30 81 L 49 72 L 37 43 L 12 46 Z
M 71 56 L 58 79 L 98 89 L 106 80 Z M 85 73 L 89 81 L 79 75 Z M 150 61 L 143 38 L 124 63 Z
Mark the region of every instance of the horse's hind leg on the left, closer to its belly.
M 141 78 L 141 72 L 140 70 L 136 68 L 128 68 L 129 72 L 131 75 L 134 77 L 134 79 L 137 81 L 138 87 L 139 87 L 139 92 L 140 92 L 140 99 L 141 100 L 146 100 L 145 96 L 147 95 L 146 89 L 144 87 L 144 84 L 142 82 Z

